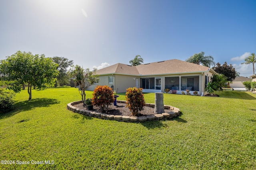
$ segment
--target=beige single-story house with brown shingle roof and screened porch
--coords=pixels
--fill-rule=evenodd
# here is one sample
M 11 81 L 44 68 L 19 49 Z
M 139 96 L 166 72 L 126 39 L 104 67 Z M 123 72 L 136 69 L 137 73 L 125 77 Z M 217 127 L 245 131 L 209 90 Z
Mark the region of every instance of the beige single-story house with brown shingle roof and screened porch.
M 98 84 L 90 86 L 94 90 L 97 85 L 108 85 L 117 93 L 124 93 L 129 87 L 143 88 L 143 92 L 164 92 L 165 88 L 181 91 L 198 91 L 205 94 L 205 84 L 212 74 L 212 68 L 188 63 L 177 59 L 131 66 L 117 63 L 97 70 Z

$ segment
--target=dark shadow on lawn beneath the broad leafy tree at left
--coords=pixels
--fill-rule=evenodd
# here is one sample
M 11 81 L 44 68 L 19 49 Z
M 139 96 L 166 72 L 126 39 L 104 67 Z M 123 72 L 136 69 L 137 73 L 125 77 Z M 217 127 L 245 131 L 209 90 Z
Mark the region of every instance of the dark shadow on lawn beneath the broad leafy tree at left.
M 11 117 L 16 113 L 19 113 L 21 111 L 28 111 L 28 110 L 34 109 L 35 107 L 48 107 L 48 106 L 59 104 L 59 103 L 60 102 L 58 100 L 49 99 L 49 98 L 38 98 L 38 99 L 17 102 L 14 105 L 15 109 L 8 113 L 0 115 L 0 119 Z

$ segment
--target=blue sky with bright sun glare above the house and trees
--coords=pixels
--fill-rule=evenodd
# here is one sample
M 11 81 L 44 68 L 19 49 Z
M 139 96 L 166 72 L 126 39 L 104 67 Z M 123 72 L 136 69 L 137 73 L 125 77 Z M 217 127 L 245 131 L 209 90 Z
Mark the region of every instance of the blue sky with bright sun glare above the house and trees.
M 91 68 L 186 60 L 204 51 L 241 65 L 256 53 L 255 0 L 0 0 L 0 59 L 16 51 Z

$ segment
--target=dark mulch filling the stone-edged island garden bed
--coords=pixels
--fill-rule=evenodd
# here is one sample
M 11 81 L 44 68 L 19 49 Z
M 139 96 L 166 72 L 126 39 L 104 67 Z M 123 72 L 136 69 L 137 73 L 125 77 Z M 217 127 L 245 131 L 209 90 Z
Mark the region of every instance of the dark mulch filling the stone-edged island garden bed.
M 110 115 L 122 115 L 122 116 L 132 116 L 132 112 L 128 109 L 128 107 L 125 107 L 126 104 L 124 103 L 118 103 L 118 106 L 114 106 L 113 104 L 108 106 L 108 110 L 104 113 L 106 114 L 110 114 Z M 83 109 L 83 104 L 76 104 L 74 105 L 75 107 L 78 107 L 80 109 Z M 148 107 L 148 106 L 144 106 L 144 109 L 140 111 L 140 115 L 138 116 L 144 116 L 144 115 L 155 115 L 157 113 L 154 113 L 154 108 L 152 107 Z M 97 111 L 97 112 L 102 112 L 100 110 L 100 107 L 98 106 L 93 106 L 93 111 Z M 164 109 L 164 111 L 166 113 L 169 113 L 170 109 Z

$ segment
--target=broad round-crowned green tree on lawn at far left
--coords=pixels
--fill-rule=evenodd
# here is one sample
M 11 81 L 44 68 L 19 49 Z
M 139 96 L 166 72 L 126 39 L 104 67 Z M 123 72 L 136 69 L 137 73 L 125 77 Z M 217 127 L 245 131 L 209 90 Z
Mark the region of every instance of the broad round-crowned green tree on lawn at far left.
M 32 55 L 30 52 L 18 51 L 0 63 L 0 70 L 8 75 L 9 80 L 15 81 L 8 86 L 8 89 L 14 92 L 20 92 L 22 84 L 28 83 L 28 100 L 31 100 L 32 86 L 44 90 L 55 82 L 54 77 L 58 75 L 57 66 L 58 64 L 46 58 L 44 54 Z

